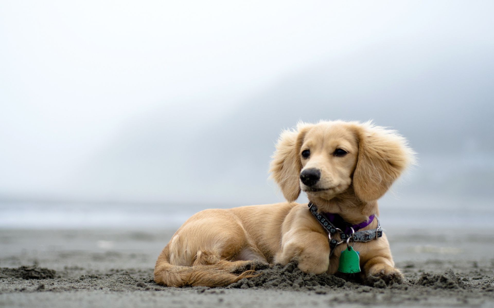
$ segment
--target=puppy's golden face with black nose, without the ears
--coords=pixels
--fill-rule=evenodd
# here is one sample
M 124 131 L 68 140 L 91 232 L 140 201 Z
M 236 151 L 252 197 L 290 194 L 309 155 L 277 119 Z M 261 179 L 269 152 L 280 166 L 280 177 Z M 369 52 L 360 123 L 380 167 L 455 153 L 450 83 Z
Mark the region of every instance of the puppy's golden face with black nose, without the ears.
M 319 124 L 303 137 L 300 187 L 307 196 L 331 199 L 352 183 L 359 144 L 355 132 L 341 123 Z

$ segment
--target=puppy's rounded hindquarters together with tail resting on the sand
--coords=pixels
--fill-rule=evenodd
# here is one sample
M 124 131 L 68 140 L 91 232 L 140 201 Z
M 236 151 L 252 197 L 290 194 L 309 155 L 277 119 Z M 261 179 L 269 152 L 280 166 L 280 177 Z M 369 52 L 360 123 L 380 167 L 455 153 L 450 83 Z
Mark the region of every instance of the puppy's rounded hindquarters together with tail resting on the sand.
M 254 270 L 266 264 L 237 259 L 249 243 L 245 229 L 228 211 L 199 212 L 165 247 L 156 263 L 155 281 L 168 286 L 224 286 L 255 277 Z

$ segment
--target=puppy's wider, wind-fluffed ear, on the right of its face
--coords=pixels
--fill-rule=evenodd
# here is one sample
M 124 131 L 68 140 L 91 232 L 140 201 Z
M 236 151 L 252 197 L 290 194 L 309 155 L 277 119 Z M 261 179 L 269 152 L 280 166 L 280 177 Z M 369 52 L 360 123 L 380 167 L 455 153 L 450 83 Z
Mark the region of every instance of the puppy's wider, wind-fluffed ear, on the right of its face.
M 415 153 L 396 131 L 371 122 L 357 125 L 357 136 L 359 154 L 353 188 L 360 200 L 371 202 L 382 197 L 400 174 L 415 163 Z

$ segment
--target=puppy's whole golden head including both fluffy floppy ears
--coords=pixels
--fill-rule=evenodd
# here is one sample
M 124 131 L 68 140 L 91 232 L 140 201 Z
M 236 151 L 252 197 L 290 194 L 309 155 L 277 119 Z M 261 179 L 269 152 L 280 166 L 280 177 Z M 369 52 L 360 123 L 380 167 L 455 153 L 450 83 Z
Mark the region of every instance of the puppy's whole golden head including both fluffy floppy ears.
M 331 121 L 284 131 L 272 158 L 270 172 L 289 202 L 300 191 L 309 200 L 331 200 L 351 187 L 368 203 L 384 195 L 414 154 L 395 131 Z

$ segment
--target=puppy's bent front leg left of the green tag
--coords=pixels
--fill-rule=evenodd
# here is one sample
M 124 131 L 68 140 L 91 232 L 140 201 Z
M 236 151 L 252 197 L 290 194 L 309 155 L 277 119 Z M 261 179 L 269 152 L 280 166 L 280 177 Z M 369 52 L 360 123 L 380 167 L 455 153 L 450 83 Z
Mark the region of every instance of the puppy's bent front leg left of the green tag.
M 310 230 L 290 230 L 282 238 L 282 250 L 275 263 L 286 265 L 291 261 L 298 262 L 302 272 L 325 273 L 329 267 L 328 238 Z

